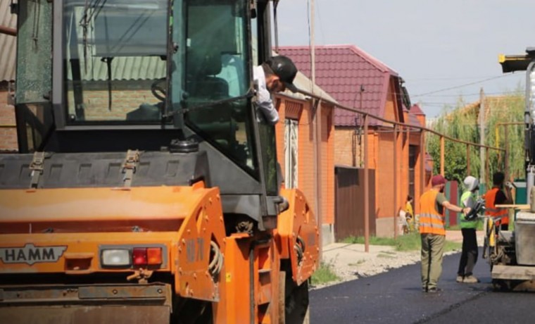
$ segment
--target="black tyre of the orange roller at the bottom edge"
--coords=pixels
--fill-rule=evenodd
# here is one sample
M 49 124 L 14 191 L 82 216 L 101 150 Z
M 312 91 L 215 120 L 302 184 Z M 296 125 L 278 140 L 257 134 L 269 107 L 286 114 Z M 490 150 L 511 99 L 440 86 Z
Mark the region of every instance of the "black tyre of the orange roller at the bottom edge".
M 308 281 L 296 285 L 289 272 L 281 271 L 279 299 L 279 323 L 309 324 Z M 284 297 L 282 292 L 284 292 Z M 284 319 L 284 320 L 283 320 Z

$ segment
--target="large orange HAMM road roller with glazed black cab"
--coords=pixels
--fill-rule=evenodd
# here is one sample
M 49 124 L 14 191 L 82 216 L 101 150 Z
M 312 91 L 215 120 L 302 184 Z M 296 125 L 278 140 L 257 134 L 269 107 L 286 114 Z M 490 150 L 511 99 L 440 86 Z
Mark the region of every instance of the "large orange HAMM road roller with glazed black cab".
M 254 106 L 273 6 L 13 1 L 19 154 L 0 154 L 0 318 L 308 320 L 315 216 L 281 189 L 275 127 Z

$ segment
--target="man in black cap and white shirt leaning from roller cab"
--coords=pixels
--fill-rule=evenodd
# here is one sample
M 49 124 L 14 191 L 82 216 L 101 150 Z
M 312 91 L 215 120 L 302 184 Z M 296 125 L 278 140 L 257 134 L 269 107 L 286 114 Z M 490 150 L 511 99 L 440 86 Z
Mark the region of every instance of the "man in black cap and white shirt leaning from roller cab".
M 257 116 L 259 121 L 275 125 L 279 121 L 279 113 L 273 106 L 271 94 L 289 89 L 296 92 L 294 78 L 297 68 L 287 56 L 273 56 L 262 65 L 253 68 L 253 78 L 258 82 Z

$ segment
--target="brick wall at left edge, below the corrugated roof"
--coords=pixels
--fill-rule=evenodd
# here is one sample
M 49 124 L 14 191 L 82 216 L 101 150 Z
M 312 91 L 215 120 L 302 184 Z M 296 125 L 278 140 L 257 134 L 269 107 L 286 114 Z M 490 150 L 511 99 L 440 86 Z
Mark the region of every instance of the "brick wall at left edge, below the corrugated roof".
M 8 104 L 8 83 L 0 82 L 0 151 L 16 150 L 15 107 Z

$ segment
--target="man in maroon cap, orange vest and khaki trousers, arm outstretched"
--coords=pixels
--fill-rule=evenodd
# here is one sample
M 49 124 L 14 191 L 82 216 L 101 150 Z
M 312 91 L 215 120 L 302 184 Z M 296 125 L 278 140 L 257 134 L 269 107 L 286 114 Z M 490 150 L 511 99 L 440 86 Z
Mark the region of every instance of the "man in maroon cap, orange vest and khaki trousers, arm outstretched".
M 446 179 L 434 175 L 432 188 L 420 197 L 420 237 L 422 239 L 422 292 L 438 292 L 442 273 L 442 256 L 446 243 L 444 208 L 459 213 L 470 213 L 470 208 L 451 204 L 444 196 Z

